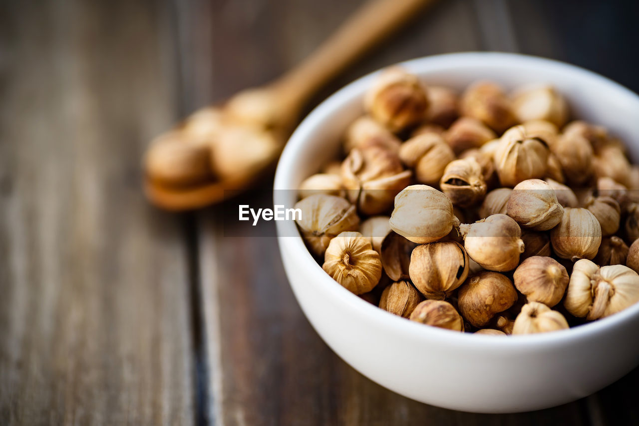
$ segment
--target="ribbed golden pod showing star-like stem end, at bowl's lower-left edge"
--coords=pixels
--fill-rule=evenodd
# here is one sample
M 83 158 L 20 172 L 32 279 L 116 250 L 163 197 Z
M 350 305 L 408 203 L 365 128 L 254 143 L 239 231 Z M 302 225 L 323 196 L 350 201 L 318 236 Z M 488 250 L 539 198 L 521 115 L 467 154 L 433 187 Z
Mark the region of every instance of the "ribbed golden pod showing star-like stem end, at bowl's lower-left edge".
M 330 240 L 322 269 L 354 294 L 371 291 L 381 278 L 380 255 L 359 232 L 341 232 Z

